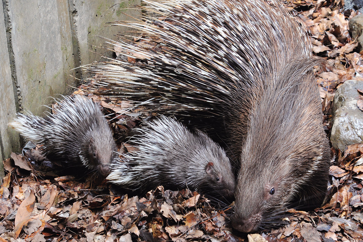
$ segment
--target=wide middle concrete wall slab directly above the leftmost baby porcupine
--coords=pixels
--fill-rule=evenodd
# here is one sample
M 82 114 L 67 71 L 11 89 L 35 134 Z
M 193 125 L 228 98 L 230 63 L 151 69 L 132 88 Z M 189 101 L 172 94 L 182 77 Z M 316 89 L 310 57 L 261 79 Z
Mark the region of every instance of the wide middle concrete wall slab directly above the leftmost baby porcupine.
M 45 99 L 70 91 L 73 44 L 66 1 L 10 0 L 11 48 L 21 110 L 42 114 Z

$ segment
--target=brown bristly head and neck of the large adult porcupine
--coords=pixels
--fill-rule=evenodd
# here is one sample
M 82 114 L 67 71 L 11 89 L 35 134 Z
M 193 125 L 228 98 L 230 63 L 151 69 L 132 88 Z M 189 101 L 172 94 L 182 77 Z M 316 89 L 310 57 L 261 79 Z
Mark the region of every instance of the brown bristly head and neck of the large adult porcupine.
M 238 231 L 268 229 L 289 207 L 307 210 L 323 202 L 329 141 L 313 76 L 310 72 L 301 76 L 287 88 L 284 79 L 267 87 L 268 98 L 262 97 L 253 110 L 241 150 L 232 217 Z

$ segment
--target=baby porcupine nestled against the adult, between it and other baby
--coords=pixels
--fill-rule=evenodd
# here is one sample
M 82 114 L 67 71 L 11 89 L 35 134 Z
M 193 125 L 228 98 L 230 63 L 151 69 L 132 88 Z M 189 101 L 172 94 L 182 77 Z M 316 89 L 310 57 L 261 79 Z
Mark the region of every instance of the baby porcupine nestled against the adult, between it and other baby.
M 165 116 L 138 132 L 132 139 L 138 151 L 115 161 L 108 180 L 143 191 L 163 185 L 233 198 L 236 181 L 231 163 L 206 134 L 199 130 L 191 133 Z

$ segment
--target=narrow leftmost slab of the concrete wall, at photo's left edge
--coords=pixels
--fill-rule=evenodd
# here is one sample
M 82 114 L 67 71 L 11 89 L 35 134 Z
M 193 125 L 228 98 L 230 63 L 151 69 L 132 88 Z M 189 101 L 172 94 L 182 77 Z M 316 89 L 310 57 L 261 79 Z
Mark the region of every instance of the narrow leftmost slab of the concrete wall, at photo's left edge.
M 3 5 L 0 5 L 0 16 Z M 5 32 L 4 18 L 0 18 L 0 158 L 1 161 L 10 157 L 11 151 L 19 150 L 19 135 L 8 128 L 16 116 L 13 82 L 11 78 L 9 52 Z M 4 175 L 3 163 L 0 163 L 0 177 Z

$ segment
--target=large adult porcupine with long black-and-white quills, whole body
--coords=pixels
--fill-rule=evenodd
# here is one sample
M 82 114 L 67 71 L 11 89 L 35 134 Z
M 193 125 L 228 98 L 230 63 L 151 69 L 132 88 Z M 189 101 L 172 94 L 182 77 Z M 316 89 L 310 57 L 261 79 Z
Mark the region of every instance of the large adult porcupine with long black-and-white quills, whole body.
M 191 114 L 192 121 L 213 118 L 200 127 L 220 126 L 209 134 L 216 132 L 241 163 L 237 230 L 268 228 L 295 198 L 320 204 L 329 144 L 311 45 L 293 17 L 275 1 L 147 2 L 143 8 L 165 21 L 127 24 L 153 41 L 115 42 L 136 60 L 90 67 L 98 74 L 95 92 L 152 112 Z

